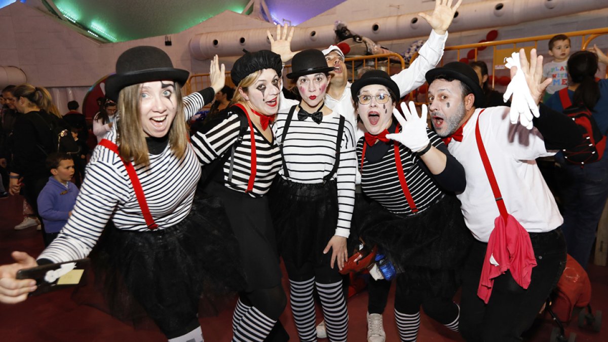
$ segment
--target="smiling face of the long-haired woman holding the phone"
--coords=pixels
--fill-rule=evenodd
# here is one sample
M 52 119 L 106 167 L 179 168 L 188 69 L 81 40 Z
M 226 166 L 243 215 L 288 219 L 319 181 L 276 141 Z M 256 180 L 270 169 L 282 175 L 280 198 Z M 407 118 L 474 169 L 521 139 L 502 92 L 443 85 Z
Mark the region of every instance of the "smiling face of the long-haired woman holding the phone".
M 154 81 L 142 83 L 139 92 L 139 114 L 146 136 L 162 138 L 171 128 L 178 111 L 175 83 Z

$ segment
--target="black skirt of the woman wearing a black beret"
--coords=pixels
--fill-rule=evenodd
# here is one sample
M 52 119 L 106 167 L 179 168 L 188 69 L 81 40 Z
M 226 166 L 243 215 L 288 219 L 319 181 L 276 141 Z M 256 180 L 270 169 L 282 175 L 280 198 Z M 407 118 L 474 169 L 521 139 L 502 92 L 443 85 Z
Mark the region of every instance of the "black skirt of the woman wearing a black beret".
M 247 280 L 245 291 L 280 285 L 282 274 L 268 198 L 251 197 L 215 181 L 205 192 L 218 199 L 237 237 Z

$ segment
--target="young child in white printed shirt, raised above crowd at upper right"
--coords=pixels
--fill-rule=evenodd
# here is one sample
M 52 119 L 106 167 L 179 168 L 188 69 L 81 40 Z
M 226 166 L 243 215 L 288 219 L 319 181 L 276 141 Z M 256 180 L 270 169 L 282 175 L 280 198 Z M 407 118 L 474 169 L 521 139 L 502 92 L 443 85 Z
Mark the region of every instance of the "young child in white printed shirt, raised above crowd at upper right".
M 542 102 L 547 101 L 554 92 L 568 86 L 566 63 L 570 57 L 570 38 L 566 35 L 553 36 L 549 40 L 549 55 L 553 57 L 553 61 L 545 63 L 542 67 L 542 77 L 543 80 L 551 78 L 553 82 L 547 86 Z

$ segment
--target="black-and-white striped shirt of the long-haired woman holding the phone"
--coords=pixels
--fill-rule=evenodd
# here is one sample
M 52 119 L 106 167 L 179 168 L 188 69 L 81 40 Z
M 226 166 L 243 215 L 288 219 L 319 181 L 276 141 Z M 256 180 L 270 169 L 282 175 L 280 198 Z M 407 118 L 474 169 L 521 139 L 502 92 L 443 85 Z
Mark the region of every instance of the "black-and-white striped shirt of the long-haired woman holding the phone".
M 185 119 L 203 105 L 204 96 L 198 92 L 184 97 Z M 116 127 L 106 133 L 105 139 L 116 143 Z M 201 166 L 191 145 L 182 159 L 176 158 L 168 145 L 161 154 L 149 157 L 148 167 L 135 169 L 154 222 L 158 229 L 165 229 L 181 222 L 190 212 Z M 121 159 L 98 145 L 86 166 L 86 178 L 71 217 L 38 259 L 63 262 L 88 256 L 109 220 L 118 229 L 148 229 Z

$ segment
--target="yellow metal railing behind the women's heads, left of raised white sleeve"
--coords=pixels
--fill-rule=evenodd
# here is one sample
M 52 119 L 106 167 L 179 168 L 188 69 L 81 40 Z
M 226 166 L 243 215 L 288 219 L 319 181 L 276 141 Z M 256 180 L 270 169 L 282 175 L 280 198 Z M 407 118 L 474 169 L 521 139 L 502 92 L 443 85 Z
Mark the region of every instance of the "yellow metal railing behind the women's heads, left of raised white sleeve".
M 394 74 L 406 68 L 406 61 L 399 54 L 381 54 L 381 55 L 370 55 L 370 56 L 360 56 L 360 57 L 348 57 L 345 58 L 344 63 L 347 65 L 347 68 L 351 70 L 351 77 L 353 80 L 356 79 L 356 68 L 358 68 L 359 63 L 361 62 L 361 66 L 368 66 L 373 69 L 385 68 L 385 71 L 389 74 Z M 396 66 L 396 71 L 392 71 L 391 62 Z M 289 74 L 291 72 L 291 65 L 286 65 L 285 69 L 283 69 L 283 74 Z M 194 74 L 190 75 L 188 78 L 188 82 L 184 85 L 184 94 L 192 94 L 192 92 L 199 91 L 201 89 L 207 88 L 211 85 L 209 80 L 209 74 Z M 226 85 L 232 86 L 233 88 L 236 86 L 232 83 L 232 79 L 230 79 L 230 71 L 226 72 Z

